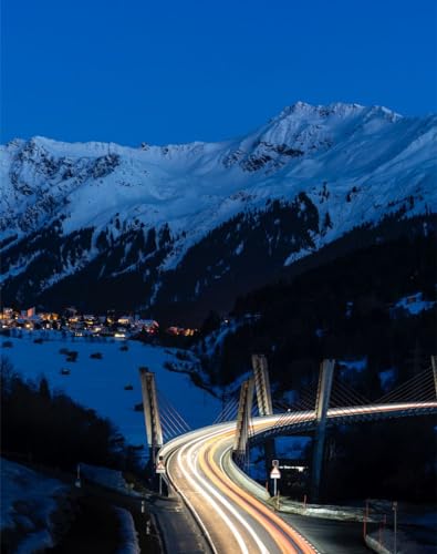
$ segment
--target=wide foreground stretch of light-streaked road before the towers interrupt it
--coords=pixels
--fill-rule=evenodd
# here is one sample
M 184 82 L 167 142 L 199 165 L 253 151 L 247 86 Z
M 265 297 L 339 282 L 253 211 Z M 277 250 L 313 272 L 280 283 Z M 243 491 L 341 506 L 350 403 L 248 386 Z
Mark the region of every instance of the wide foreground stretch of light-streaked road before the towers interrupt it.
M 232 443 L 235 423 L 186 435 L 166 455 L 167 473 L 223 554 L 313 553 L 314 548 L 262 502 L 236 485 L 221 460 Z

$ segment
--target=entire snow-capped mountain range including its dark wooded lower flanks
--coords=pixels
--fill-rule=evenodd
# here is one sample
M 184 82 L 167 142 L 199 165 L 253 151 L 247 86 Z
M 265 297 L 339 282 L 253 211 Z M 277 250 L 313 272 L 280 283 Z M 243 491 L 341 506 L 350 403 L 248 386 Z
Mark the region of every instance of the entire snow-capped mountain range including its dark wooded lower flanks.
M 3 301 L 229 304 L 353 229 L 436 212 L 436 134 L 435 115 L 298 102 L 214 144 L 14 140 L 0 150 Z

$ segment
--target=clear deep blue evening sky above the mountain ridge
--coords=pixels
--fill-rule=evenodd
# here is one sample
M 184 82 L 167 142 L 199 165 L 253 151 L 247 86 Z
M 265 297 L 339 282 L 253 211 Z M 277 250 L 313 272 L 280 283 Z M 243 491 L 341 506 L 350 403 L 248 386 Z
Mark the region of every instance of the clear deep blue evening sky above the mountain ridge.
M 1 142 L 244 134 L 303 100 L 437 111 L 435 0 L 2 0 Z

